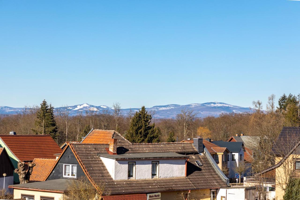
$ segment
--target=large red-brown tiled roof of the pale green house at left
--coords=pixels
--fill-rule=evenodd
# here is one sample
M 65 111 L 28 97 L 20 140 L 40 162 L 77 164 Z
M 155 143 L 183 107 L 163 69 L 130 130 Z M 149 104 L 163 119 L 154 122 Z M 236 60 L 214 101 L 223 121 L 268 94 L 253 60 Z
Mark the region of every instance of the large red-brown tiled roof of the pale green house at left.
M 0 139 L 20 161 L 55 158 L 62 152 L 50 135 L 0 135 Z

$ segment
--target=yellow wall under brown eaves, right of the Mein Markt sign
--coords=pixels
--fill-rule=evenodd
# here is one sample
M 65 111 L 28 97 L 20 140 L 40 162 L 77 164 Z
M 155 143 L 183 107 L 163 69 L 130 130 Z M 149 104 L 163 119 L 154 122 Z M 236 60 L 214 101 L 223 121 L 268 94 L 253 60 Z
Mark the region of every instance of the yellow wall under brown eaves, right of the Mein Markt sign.
M 161 200 L 183 199 L 181 193 L 183 193 L 185 197 L 185 194 L 187 194 L 188 191 L 184 190 L 184 191 L 161 192 Z M 190 199 L 210 200 L 210 189 L 191 190 Z

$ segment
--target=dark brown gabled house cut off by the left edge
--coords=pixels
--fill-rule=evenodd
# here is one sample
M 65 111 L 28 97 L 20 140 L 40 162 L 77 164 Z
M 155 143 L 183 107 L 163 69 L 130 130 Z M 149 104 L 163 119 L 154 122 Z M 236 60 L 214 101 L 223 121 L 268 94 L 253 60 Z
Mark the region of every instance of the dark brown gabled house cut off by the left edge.
M 5 148 L 0 148 L 0 188 L 13 192 L 7 186 L 13 184 L 13 163 L 10 161 Z

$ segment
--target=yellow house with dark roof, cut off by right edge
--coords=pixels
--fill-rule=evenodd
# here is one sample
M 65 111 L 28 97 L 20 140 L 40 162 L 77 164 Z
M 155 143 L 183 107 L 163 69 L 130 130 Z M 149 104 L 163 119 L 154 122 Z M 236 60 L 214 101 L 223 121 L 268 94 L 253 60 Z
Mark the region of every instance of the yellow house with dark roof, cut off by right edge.
M 263 177 L 264 187 L 271 187 L 275 198 L 282 200 L 290 177 L 300 177 L 300 127 L 283 127 L 273 146 L 275 165 L 254 177 L 247 177 L 255 185 L 256 177 Z M 256 182 L 257 185 L 257 182 Z

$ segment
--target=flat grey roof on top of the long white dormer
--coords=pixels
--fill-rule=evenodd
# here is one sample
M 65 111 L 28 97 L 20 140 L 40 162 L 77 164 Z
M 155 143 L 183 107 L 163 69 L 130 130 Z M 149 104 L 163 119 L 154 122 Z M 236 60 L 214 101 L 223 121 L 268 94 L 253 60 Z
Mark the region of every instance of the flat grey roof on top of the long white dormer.
M 130 160 L 130 159 L 188 159 L 188 156 L 174 152 L 147 152 L 147 153 L 125 153 L 111 155 L 108 153 L 98 153 L 100 157 L 110 158 L 115 160 Z

